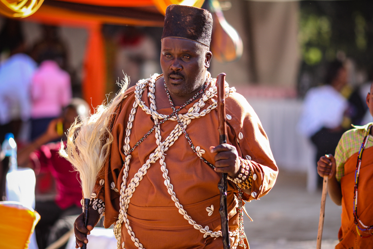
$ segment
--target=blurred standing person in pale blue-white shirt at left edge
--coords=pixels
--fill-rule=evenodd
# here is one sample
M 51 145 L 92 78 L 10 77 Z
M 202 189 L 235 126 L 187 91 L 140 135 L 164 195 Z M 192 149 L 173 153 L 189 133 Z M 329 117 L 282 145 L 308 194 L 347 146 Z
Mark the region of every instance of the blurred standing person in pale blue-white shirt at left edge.
M 21 23 L 6 19 L 0 32 L 0 54 L 5 59 L 0 65 L 0 142 L 6 133 L 17 138 L 22 122 L 30 118 L 29 96 L 36 63 L 25 53 Z M 26 140 L 26 138 L 24 139 Z

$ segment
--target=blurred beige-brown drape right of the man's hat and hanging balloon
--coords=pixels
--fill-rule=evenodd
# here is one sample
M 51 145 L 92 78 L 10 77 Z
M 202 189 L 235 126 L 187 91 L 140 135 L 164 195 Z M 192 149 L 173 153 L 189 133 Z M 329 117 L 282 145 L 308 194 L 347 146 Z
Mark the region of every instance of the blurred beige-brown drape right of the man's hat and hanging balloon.
M 231 0 L 226 20 L 241 35 L 244 54 L 236 62 L 214 60 L 215 77 L 227 74 L 230 84 L 250 84 L 296 89 L 300 53 L 298 49 L 299 3 Z

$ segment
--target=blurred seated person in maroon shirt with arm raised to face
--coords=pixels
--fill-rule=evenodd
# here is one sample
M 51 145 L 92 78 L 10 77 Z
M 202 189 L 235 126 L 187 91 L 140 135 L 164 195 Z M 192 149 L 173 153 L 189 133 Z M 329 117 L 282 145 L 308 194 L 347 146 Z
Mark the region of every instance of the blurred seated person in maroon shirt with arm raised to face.
M 87 118 L 88 104 L 82 99 L 72 99 L 60 118 L 53 119 L 47 130 L 18 153 L 18 164 L 29 166 L 35 173 L 48 170 L 56 181 L 57 195 L 54 200 L 35 203 L 35 210 L 41 219 L 35 227 L 39 249 L 44 249 L 68 232 L 82 212 L 82 190 L 78 172 L 70 162 L 59 156 L 62 138 L 66 144 L 65 132 L 76 118 Z M 65 245 L 62 247 L 65 248 Z

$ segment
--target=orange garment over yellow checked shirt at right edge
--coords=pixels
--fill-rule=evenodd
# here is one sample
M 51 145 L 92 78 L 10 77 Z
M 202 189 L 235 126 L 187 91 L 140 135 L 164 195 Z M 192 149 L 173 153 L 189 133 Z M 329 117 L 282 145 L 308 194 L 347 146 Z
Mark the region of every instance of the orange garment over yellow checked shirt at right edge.
M 373 248 L 373 236 L 359 231 L 366 238 L 359 236 L 354 223 L 354 186 L 358 153 L 352 155 L 345 163 L 345 174 L 341 178 L 342 189 L 342 224 L 339 229 L 339 244 L 336 249 Z M 365 225 L 373 224 L 373 147 L 364 149 L 359 174 L 357 215 Z M 360 225 L 360 227 L 362 227 Z M 372 231 L 370 231 L 372 232 Z

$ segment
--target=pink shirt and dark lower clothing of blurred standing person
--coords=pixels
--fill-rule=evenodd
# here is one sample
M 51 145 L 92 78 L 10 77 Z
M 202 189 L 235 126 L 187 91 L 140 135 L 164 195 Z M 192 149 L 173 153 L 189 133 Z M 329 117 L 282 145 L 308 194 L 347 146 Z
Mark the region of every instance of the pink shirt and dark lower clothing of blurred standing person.
M 31 82 L 31 140 L 44 133 L 72 97 L 70 75 L 48 57 L 41 62 Z

